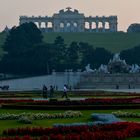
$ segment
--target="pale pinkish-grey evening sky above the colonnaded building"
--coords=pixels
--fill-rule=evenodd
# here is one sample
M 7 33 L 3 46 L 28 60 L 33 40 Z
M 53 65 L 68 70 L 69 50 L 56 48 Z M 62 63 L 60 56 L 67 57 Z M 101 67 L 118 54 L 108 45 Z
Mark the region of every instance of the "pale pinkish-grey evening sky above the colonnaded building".
M 19 25 L 19 16 L 52 16 L 71 7 L 85 16 L 117 15 L 118 30 L 140 23 L 140 0 L 0 0 L 0 31 Z

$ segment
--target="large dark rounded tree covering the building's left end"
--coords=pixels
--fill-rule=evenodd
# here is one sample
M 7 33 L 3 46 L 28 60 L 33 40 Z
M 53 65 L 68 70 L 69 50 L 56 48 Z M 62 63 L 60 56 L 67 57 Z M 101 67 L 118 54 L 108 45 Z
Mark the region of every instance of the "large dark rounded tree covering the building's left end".
M 34 23 L 24 23 L 13 27 L 4 43 L 4 56 L 1 64 L 3 72 L 25 74 L 32 69 L 31 56 L 34 46 L 42 43 L 42 34 Z

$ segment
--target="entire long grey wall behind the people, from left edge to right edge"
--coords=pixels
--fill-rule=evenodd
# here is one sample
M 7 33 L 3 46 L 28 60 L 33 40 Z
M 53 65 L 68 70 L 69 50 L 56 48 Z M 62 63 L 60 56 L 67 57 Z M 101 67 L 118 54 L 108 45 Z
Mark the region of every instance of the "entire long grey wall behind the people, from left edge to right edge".
M 57 86 L 63 90 L 67 84 L 71 89 L 139 89 L 140 74 L 90 74 L 80 72 L 53 72 L 51 75 L 18 78 L 0 81 L 0 86 L 9 85 L 9 90 L 41 90 L 43 85 Z

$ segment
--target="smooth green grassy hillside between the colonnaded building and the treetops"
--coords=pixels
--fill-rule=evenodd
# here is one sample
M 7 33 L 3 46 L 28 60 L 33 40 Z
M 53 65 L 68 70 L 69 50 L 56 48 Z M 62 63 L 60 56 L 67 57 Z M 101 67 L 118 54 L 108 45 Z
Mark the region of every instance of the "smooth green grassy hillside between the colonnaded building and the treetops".
M 53 42 L 62 36 L 66 44 L 72 41 L 88 42 L 96 47 L 104 47 L 112 52 L 140 45 L 140 33 L 44 33 L 45 42 Z

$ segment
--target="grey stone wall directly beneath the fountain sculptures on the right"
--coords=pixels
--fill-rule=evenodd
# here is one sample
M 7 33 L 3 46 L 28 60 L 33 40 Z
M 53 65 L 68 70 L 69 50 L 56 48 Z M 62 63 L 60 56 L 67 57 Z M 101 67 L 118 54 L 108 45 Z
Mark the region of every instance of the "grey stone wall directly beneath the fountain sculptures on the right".
M 80 89 L 140 88 L 140 74 L 82 74 Z

